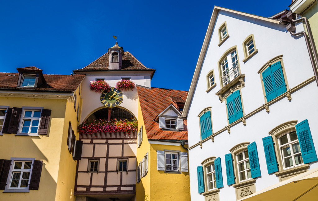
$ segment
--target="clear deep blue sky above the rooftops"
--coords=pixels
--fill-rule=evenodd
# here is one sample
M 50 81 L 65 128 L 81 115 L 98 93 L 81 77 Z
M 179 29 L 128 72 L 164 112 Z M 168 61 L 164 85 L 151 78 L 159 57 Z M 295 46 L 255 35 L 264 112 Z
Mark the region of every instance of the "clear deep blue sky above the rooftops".
M 270 17 L 290 3 L 1 0 L 0 72 L 36 66 L 71 74 L 106 53 L 117 35 L 124 51 L 156 69 L 152 87 L 189 90 L 214 5 Z

